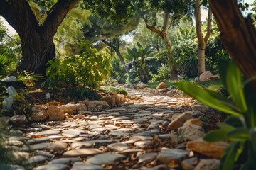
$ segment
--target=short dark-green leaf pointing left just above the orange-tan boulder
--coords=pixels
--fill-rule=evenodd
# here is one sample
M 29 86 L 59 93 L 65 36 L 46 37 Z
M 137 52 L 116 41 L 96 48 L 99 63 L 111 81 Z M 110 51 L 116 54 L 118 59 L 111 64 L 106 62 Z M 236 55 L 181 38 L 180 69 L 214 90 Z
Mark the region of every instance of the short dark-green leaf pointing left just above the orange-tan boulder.
M 227 132 L 225 130 L 212 130 L 203 137 L 203 140 L 208 142 L 228 140 Z

